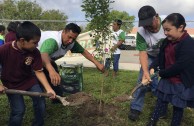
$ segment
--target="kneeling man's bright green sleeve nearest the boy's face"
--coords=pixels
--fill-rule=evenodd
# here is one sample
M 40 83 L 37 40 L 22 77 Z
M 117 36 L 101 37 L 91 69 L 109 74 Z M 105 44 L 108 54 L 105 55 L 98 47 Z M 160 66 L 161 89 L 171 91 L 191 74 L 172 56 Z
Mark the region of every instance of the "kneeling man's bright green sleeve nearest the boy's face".
M 53 54 L 57 50 L 58 50 L 57 41 L 52 38 L 46 39 L 40 47 L 41 53 L 48 53 L 49 55 Z

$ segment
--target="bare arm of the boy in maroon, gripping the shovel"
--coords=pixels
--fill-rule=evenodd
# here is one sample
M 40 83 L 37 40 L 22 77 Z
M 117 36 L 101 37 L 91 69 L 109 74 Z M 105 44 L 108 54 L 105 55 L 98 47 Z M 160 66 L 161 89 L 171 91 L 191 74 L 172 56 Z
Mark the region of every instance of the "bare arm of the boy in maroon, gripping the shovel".
M 35 74 L 36 74 L 36 77 L 38 78 L 38 80 L 41 82 L 41 84 L 45 88 L 45 90 L 47 91 L 47 93 L 53 94 L 53 96 L 51 96 L 51 98 L 55 98 L 56 94 L 53 91 L 53 89 L 51 88 L 51 86 L 49 85 L 44 72 L 43 71 L 35 71 Z

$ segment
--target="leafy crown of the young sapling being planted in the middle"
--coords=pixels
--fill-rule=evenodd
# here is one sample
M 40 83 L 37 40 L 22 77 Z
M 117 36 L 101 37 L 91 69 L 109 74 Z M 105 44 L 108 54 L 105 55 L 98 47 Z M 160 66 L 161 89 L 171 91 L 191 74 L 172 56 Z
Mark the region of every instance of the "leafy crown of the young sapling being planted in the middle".
M 99 60 L 103 62 L 104 45 L 110 36 L 109 25 L 111 23 L 110 18 L 110 3 L 112 0 L 83 0 L 81 7 L 82 11 L 85 11 L 86 20 L 89 23 L 88 27 L 93 31 L 91 35 L 94 38 L 94 44 L 96 45 L 96 51 Z

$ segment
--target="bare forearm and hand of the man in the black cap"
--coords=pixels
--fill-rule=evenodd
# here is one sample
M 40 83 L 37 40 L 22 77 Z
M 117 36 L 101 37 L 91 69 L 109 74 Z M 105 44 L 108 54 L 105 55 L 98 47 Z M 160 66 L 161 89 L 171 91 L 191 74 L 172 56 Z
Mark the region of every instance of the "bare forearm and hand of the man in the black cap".
M 148 55 L 146 51 L 139 51 L 139 60 L 140 60 L 140 64 L 143 70 L 142 81 L 144 79 L 151 81 L 149 70 L 148 70 Z

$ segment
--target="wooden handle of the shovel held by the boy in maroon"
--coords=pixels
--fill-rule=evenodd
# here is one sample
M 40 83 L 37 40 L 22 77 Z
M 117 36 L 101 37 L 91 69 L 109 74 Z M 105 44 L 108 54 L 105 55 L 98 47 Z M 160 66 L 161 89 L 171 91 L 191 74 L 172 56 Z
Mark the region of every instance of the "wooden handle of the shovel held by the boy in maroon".
M 31 92 L 31 91 L 23 91 L 23 90 L 15 90 L 15 89 L 6 89 L 6 94 L 21 94 L 27 96 L 37 96 L 37 97 L 50 97 L 52 94 L 42 93 L 42 92 Z

